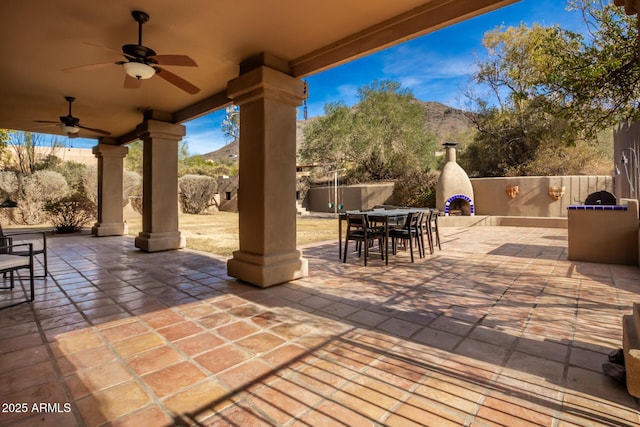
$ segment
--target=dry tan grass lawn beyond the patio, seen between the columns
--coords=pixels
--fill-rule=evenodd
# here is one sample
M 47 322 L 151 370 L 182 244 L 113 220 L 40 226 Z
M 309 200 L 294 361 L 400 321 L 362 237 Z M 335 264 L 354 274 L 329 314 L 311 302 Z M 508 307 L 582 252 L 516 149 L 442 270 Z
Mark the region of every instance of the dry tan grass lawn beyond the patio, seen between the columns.
M 142 217 L 126 216 L 129 235 L 142 231 Z M 180 214 L 179 229 L 187 238 L 187 248 L 229 257 L 238 250 L 238 214 L 214 212 L 210 215 Z M 336 239 L 338 221 L 335 218 L 306 218 L 297 220 L 298 245 Z

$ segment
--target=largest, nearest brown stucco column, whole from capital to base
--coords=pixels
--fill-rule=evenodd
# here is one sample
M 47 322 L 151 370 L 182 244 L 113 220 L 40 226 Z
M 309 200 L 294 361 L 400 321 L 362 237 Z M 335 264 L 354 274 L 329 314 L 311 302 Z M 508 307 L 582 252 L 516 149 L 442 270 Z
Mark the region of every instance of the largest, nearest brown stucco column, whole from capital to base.
M 240 106 L 240 250 L 227 272 L 261 287 L 308 274 L 296 249 L 296 106 L 304 83 L 266 66 L 229 82 Z

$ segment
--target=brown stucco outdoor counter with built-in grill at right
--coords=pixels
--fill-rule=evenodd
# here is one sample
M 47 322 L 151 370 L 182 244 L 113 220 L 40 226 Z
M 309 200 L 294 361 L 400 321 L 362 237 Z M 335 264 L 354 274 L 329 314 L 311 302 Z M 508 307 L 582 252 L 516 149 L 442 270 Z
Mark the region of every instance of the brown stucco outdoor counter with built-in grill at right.
M 569 260 L 639 265 L 638 201 L 569 206 Z

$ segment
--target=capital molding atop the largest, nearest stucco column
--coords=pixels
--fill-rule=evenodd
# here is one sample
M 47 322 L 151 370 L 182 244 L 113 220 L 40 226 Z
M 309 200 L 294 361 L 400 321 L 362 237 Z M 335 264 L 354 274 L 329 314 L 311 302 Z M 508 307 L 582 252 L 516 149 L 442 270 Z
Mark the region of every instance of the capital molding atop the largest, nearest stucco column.
M 273 99 L 298 106 L 305 99 L 304 82 L 281 71 L 260 66 L 227 83 L 227 96 L 237 105 Z

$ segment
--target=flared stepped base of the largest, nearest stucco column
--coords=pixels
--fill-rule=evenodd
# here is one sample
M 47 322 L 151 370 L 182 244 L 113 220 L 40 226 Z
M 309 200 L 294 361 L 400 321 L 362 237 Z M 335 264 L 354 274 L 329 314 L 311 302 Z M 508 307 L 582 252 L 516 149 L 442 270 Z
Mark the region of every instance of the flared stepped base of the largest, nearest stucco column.
M 267 288 L 308 276 L 309 262 L 297 250 L 278 255 L 235 251 L 233 258 L 227 261 L 227 274 L 243 282 Z

